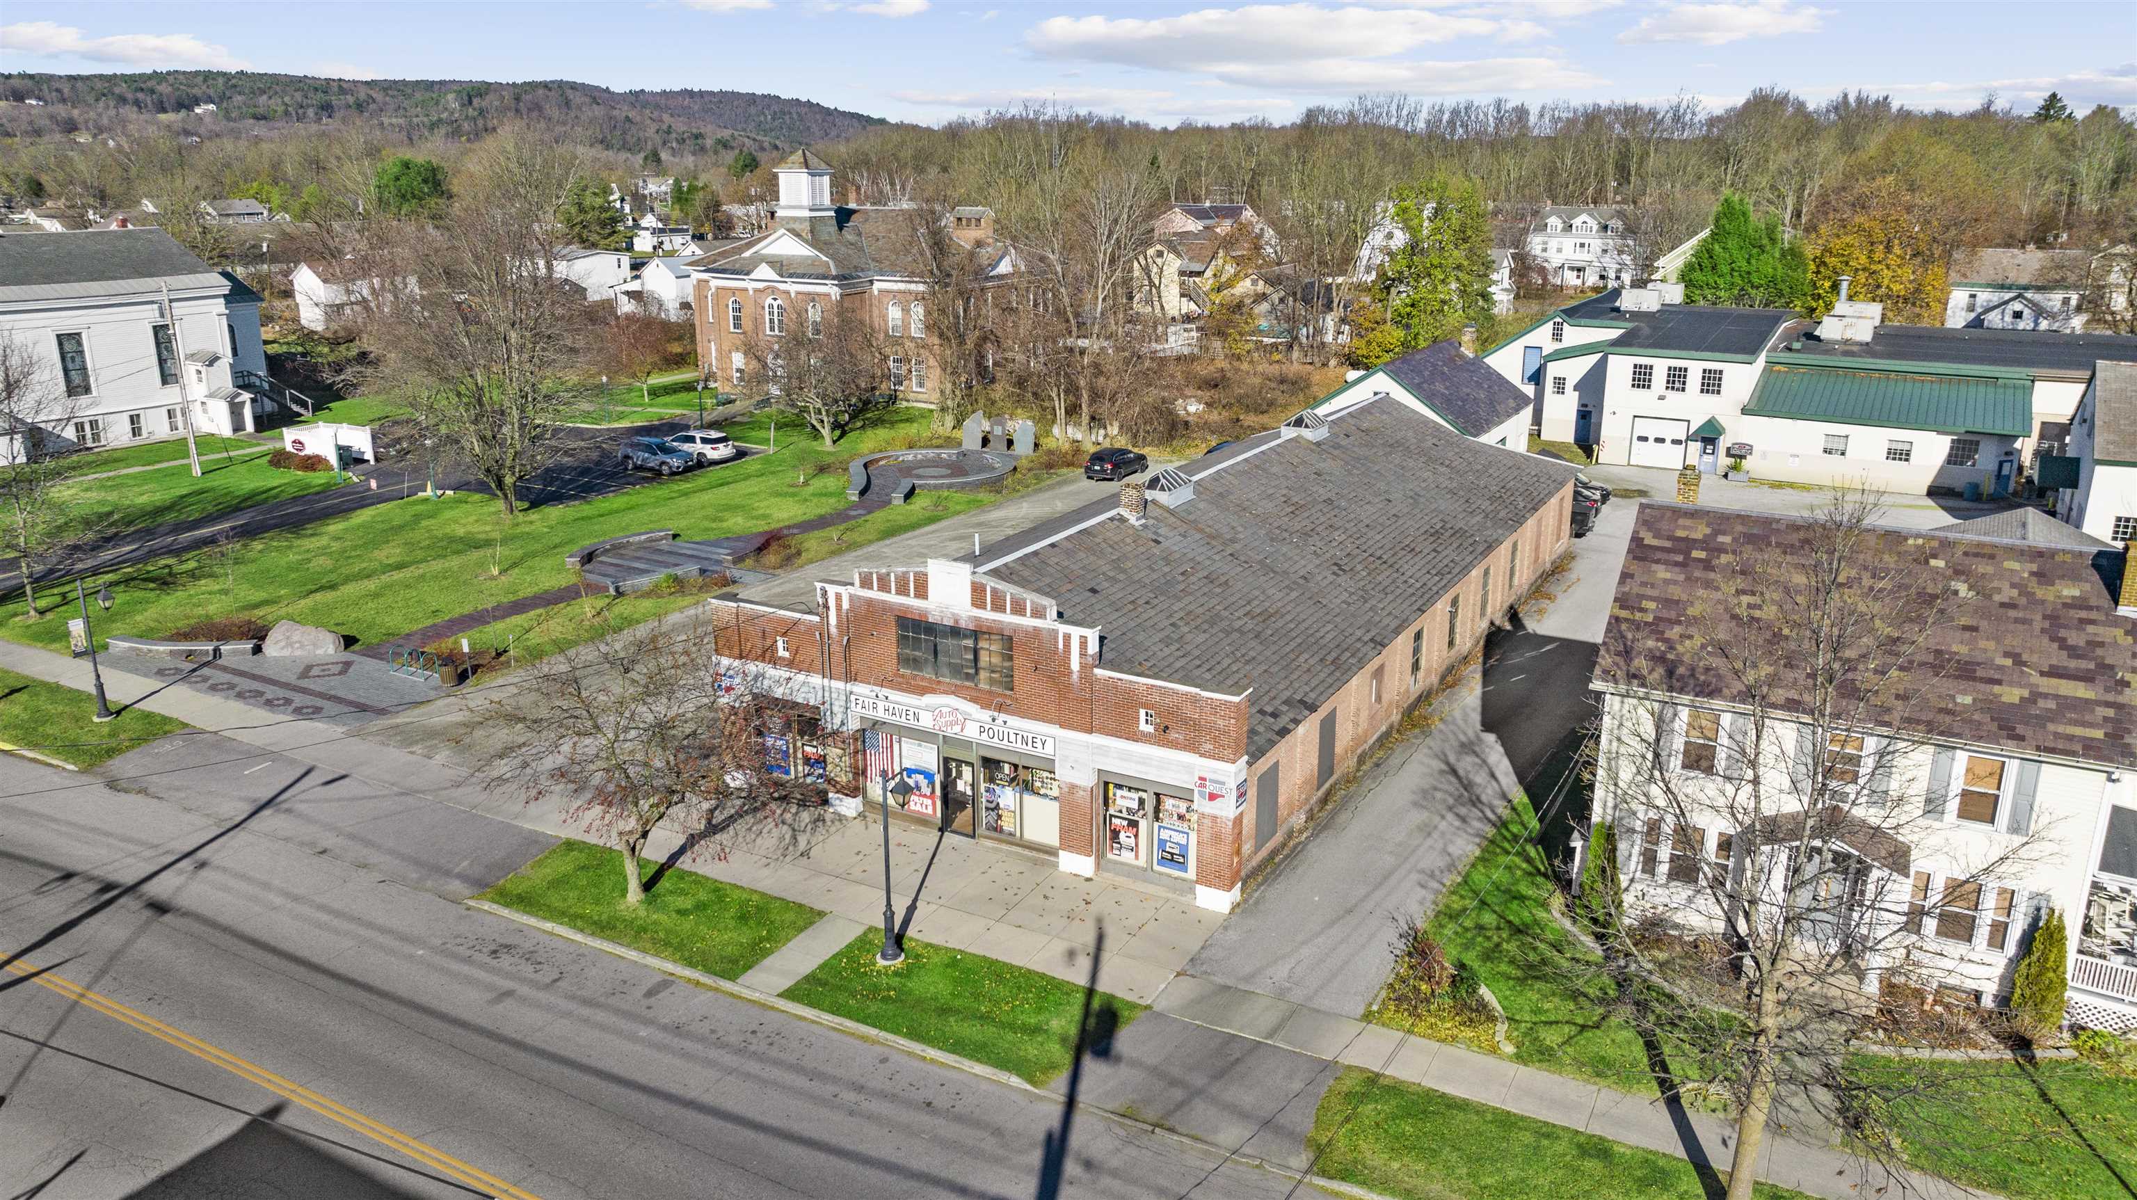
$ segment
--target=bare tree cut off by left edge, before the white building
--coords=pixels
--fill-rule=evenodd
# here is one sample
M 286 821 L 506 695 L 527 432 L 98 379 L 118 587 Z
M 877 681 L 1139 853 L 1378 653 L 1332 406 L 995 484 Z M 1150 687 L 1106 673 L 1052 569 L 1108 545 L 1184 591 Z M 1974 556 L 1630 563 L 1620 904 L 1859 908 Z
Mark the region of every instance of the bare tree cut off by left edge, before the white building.
M 85 401 L 66 395 L 30 342 L 0 333 L 0 538 L 21 574 L 30 617 L 38 615 L 38 566 L 103 532 L 64 487 L 64 459 L 45 446 L 47 431 L 83 410 Z

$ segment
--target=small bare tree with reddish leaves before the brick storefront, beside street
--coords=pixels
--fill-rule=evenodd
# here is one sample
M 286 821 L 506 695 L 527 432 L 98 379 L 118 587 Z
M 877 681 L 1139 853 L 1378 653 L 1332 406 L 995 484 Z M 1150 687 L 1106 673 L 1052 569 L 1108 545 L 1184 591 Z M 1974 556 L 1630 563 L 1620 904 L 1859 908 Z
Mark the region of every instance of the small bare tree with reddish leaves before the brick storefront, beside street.
M 765 771 L 754 696 L 722 666 L 701 619 L 648 621 L 568 649 L 483 711 L 487 779 L 566 818 L 624 856 L 624 899 L 645 901 L 639 856 L 667 824 L 686 837 L 750 816 L 804 818 Z

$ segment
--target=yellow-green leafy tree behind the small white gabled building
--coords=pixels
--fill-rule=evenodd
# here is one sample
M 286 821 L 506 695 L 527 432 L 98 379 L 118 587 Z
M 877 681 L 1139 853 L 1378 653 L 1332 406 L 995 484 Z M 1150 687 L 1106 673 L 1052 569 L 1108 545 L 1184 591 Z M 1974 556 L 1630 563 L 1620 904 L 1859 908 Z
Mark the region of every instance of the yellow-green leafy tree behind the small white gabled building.
M 1404 241 L 1374 282 L 1393 329 L 1393 346 L 1381 346 L 1391 350 L 1387 357 L 1445 342 L 1492 316 L 1492 220 L 1477 181 L 1438 175 L 1395 188 L 1393 201 Z

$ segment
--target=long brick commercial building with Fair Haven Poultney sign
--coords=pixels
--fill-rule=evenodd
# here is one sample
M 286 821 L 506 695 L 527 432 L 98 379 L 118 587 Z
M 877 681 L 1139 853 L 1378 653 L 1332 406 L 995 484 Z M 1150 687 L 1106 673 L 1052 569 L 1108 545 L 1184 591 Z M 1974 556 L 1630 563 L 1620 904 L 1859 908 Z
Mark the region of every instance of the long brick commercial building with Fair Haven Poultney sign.
M 1571 483 L 1374 397 L 812 611 L 714 600 L 716 643 L 797 775 L 1225 912 L 1549 570 Z

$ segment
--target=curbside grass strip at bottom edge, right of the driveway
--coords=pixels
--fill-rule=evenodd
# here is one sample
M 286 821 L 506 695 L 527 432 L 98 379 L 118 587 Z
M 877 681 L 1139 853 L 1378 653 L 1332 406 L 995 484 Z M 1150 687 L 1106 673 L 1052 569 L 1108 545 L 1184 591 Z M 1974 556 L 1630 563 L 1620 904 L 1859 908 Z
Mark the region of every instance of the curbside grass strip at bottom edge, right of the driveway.
M 1329 1179 L 1404 1200 L 1701 1196 L 1693 1164 L 1359 1068 L 1329 1085 L 1308 1147 Z M 1761 1200 L 1808 1200 L 1761 1183 Z

